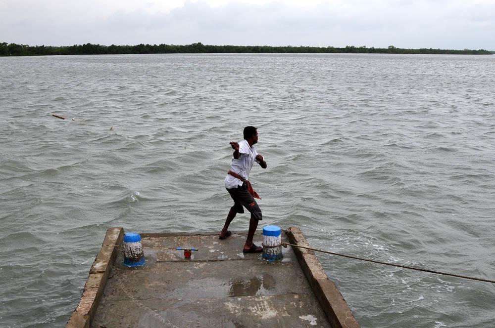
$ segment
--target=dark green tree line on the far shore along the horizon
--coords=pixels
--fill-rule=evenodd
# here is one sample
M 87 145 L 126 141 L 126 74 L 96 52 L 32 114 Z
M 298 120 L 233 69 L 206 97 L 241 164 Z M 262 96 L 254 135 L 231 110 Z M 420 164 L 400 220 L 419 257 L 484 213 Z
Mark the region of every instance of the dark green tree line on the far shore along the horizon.
M 451 49 L 403 49 L 390 45 L 388 48 L 356 47 L 347 45 L 339 47 L 310 46 L 269 46 L 269 45 L 207 45 L 201 42 L 175 44 L 137 44 L 137 45 L 101 45 L 74 44 L 69 46 L 27 45 L 16 43 L 0 43 L 0 56 L 50 56 L 50 55 L 117 55 L 143 53 L 404 53 L 404 54 L 455 54 L 455 55 L 489 55 L 495 51 L 451 50 Z

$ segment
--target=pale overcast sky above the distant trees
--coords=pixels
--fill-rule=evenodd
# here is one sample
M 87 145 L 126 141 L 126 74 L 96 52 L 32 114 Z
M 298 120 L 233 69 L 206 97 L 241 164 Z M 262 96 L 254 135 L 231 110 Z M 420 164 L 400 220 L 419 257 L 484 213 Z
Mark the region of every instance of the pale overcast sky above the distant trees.
M 495 0 L 0 0 L 0 42 L 495 50 Z

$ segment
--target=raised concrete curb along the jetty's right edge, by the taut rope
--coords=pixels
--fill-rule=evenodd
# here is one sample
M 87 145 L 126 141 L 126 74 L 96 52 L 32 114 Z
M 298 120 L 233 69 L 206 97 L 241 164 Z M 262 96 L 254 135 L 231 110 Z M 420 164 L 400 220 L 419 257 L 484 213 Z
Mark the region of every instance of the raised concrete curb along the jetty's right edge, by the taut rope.
M 310 247 L 302 231 L 297 227 L 290 227 L 286 230 L 286 236 L 290 244 Z M 358 328 L 359 324 L 352 315 L 346 300 L 337 286 L 328 279 L 314 251 L 298 247 L 293 247 L 293 250 L 332 327 Z

